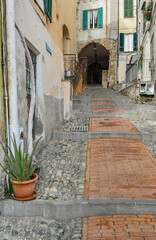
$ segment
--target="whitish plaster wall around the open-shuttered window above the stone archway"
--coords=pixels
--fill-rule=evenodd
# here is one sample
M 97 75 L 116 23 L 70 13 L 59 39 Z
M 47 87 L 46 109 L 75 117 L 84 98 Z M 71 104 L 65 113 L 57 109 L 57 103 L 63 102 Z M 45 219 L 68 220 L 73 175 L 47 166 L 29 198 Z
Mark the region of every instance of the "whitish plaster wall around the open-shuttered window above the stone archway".
M 83 10 L 98 9 L 103 7 L 103 28 L 82 30 Z M 117 36 L 117 1 L 111 0 L 81 0 L 77 5 L 78 18 L 78 42 L 92 41 L 96 39 L 113 38 Z

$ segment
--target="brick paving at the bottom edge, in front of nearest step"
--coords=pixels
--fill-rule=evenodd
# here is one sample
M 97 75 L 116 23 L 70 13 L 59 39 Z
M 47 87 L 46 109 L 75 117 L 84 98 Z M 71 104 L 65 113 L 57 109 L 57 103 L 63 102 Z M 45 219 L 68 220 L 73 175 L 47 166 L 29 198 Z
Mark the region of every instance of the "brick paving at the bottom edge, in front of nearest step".
M 122 215 L 83 220 L 82 240 L 156 240 L 156 216 Z

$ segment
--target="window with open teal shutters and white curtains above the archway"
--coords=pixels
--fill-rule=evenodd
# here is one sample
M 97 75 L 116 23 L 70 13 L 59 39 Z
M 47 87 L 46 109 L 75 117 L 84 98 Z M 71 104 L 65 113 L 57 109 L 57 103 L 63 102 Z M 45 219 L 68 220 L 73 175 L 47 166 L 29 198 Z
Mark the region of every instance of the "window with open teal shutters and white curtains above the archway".
M 103 27 L 103 8 L 83 10 L 82 29 L 96 29 Z

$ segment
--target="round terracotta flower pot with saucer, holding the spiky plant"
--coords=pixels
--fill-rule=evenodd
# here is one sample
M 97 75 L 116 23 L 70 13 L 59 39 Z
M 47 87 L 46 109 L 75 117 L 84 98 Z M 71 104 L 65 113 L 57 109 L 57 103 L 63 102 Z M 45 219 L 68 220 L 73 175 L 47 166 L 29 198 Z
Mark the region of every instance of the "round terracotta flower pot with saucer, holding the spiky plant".
M 23 182 L 13 181 L 12 179 L 10 179 L 10 181 L 12 182 L 15 199 L 19 198 L 18 200 L 24 201 L 25 199 L 29 200 L 29 198 L 34 198 L 33 194 L 38 175 L 36 173 L 33 173 L 32 176 L 34 177 L 33 179 Z

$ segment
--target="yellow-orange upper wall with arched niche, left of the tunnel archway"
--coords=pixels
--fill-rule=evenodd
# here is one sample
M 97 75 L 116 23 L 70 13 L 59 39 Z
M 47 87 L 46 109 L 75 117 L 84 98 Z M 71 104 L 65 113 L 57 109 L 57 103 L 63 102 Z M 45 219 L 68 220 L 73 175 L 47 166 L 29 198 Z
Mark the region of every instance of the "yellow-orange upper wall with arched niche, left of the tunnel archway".
M 63 51 L 63 25 L 69 31 L 70 50 L 69 53 L 76 53 L 76 1 L 53 0 L 52 24 L 38 5 L 31 0 L 33 7 L 40 16 L 53 41 Z

